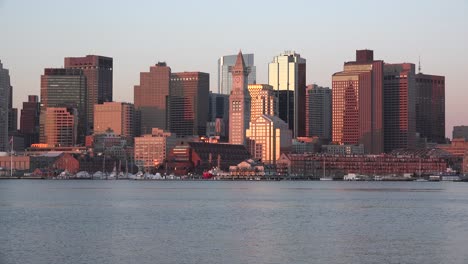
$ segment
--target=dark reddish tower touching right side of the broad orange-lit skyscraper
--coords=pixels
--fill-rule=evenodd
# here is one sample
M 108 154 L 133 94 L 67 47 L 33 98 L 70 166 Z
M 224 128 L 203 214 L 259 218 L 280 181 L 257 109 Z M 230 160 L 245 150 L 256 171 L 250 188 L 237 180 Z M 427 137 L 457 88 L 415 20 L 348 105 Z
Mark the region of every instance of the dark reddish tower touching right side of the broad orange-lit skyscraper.
M 384 64 L 384 151 L 416 144 L 416 83 L 412 63 Z

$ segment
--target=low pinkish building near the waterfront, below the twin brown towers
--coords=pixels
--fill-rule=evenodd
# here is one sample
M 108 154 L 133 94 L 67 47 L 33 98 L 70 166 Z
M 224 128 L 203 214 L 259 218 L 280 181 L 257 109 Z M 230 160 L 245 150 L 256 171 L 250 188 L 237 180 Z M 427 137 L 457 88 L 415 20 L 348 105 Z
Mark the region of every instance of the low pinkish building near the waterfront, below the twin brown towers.
M 175 144 L 174 134 L 153 128 L 151 134 L 135 137 L 135 164 L 140 169 L 158 168 L 166 163 L 167 154 Z

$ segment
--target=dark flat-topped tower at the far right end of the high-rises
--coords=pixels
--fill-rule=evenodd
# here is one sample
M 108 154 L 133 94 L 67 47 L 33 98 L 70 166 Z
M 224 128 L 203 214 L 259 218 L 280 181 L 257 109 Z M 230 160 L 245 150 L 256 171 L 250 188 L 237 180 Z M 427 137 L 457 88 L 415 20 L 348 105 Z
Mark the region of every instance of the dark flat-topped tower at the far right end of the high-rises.
M 428 142 L 445 142 L 445 76 L 416 74 L 416 132 Z

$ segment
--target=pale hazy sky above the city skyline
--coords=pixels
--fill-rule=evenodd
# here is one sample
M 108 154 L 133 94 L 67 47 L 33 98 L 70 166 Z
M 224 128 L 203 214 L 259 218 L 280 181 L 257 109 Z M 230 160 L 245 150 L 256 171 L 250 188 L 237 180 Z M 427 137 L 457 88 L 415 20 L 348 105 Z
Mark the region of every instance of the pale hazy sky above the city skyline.
M 40 92 L 44 68 L 67 56 L 114 58 L 114 100 L 133 102 L 139 73 L 158 61 L 173 72 L 210 73 L 239 49 L 255 54 L 257 82 L 284 50 L 307 59 L 307 83 L 330 86 L 356 49 L 385 62 L 418 62 L 446 77 L 446 125 L 468 125 L 468 1 L 65 1 L 0 0 L 0 59 L 14 105 Z

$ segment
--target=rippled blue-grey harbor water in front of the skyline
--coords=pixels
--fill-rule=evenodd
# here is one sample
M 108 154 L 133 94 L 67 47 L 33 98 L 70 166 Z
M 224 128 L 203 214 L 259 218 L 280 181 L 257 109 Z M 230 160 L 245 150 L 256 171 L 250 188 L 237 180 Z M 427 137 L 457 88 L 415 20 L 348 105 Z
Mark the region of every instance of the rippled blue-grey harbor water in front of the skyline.
M 468 263 L 468 184 L 0 181 L 0 263 Z

